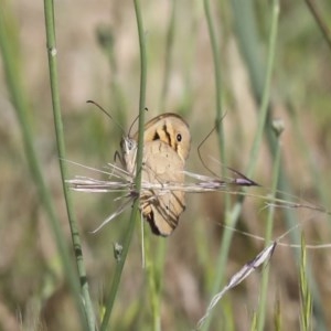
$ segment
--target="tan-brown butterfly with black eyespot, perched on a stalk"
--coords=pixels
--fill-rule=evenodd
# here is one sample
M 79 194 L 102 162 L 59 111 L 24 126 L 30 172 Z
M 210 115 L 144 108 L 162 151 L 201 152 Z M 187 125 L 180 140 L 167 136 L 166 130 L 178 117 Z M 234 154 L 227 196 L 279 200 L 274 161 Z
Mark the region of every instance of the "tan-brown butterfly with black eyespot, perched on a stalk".
M 126 170 L 136 174 L 138 132 L 121 140 Z M 185 160 L 191 147 L 188 124 L 177 114 L 167 113 L 145 125 L 142 181 L 181 185 L 184 183 Z M 140 210 L 157 235 L 168 236 L 177 227 L 185 210 L 182 190 L 151 189 L 140 194 Z

